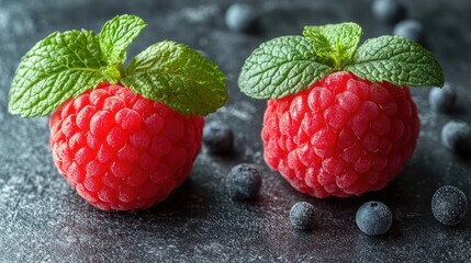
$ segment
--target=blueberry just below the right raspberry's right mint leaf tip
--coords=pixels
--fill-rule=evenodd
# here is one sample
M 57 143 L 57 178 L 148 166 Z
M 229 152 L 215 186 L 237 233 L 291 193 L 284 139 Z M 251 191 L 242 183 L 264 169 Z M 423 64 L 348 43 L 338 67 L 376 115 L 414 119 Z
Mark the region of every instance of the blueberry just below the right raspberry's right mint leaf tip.
M 434 111 L 437 112 L 450 112 L 455 102 L 457 101 L 457 93 L 455 88 L 448 82 L 445 83 L 444 88 L 431 88 L 428 93 L 428 103 Z

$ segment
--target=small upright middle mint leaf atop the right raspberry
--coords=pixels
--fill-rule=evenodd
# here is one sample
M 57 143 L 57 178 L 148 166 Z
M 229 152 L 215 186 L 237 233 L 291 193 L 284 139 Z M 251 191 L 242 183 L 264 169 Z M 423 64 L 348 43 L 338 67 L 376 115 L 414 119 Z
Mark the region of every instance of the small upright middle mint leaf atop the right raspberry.
M 317 56 L 327 59 L 337 70 L 349 62 L 362 35 L 361 27 L 356 23 L 305 26 L 303 35 L 314 42 Z

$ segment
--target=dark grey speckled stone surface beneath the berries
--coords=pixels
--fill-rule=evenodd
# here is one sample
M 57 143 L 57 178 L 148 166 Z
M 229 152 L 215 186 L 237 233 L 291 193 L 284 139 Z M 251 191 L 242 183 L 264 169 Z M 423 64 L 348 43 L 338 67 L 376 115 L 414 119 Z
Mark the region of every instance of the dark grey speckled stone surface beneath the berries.
M 430 111 L 428 89 L 414 89 L 422 132 L 414 157 L 386 188 L 351 198 L 315 199 L 302 195 L 262 160 L 259 139 L 263 101 L 243 95 L 237 77 L 244 59 L 261 42 L 301 34 L 306 24 L 355 21 L 365 37 L 391 34 L 373 20 L 371 1 L 246 1 L 260 13 L 260 32 L 234 33 L 224 13 L 232 1 L 0 0 L 0 262 L 470 262 L 471 211 L 456 227 L 440 225 L 430 199 L 441 185 L 471 192 L 471 160 L 440 144 L 450 119 L 471 122 L 471 2 L 403 1 L 420 21 L 427 47 L 457 87 L 457 110 Z M 128 57 L 148 45 L 173 39 L 202 50 L 227 75 L 229 100 L 208 121 L 234 129 L 229 157 L 202 149 L 189 180 L 169 199 L 148 210 L 104 213 L 88 205 L 54 167 L 46 117 L 21 119 L 7 111 L 8 91 L 20 58 L 53 31 L 99 32 L 116 14 L 142 16 L 149 25 Z M 224 187 L 229 169 L 253 162 L 263 184 L 250 202 L 232 201 Z M 355 224 L 358 207 L 380 201 L 393 213 L 383 237 L 363 235 Z M 306 201 L 316 207 L 313 231 L 294 230 L 290 207 Z

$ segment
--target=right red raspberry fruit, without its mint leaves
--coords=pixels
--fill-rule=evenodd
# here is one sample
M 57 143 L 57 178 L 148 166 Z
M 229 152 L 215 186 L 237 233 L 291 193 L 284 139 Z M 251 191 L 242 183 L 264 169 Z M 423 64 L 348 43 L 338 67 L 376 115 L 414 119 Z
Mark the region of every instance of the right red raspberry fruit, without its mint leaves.
M 411 158 L 418 129 L 408 88 L 336 72 L 269 100 L 261 136 L 268 165 L 300 192 L 326 197 L 384 187 Z

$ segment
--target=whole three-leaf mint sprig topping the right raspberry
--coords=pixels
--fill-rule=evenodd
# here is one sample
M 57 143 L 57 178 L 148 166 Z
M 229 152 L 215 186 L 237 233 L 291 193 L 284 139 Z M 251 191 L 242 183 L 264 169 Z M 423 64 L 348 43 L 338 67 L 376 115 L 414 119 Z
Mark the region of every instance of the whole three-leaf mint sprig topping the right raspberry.
M 355 23 L 305 26 L 304 36 L 281 36 L 261 44 L 246 59 L 238 84 L 256 99 L 280 99 L 309 89 L 334 71 L 372 82 L 442 87 L 444 71 L 434 55 L 402 36 L 367 39 Z

